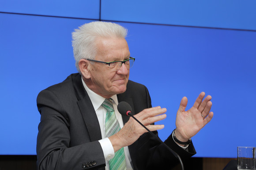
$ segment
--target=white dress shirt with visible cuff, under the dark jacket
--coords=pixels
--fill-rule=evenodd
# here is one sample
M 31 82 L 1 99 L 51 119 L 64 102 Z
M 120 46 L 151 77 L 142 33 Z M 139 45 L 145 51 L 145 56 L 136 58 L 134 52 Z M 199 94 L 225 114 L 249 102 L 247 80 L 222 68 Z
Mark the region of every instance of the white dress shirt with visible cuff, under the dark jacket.
M 102 103 L 103 103 L 103 101 L 105 101 L 105 98 L 103 98 L 102 96 L 100 96 L 100 95 L 94 93 L 92 90 L 90 90 L 87 87 L 87 85 L 84 83 L 83 79 L 82 79 L 82 82 L 83 82 L 83 87 L 87 91 L 87 94 L 90 97 L 90 100 L 92 102 L 92 105 L 94 107 L 96 115 L 98 117 L 98 122 L 100 124 L 101 134 L 102 134 L 102 139 L 99 140 L 99 142 L 102 146 L 102 150 L 103 150 L 105 161 L 106 161 L 105 170 L 109 170 L 109 159 L 113 158 L 115 156 L 115 153 L 114 153 L 113 146 L 112 146 L 111 142 L 109 141 L 109 138 L 106 137 L 106 132 L 105 132 L 105 119 L 106 119 L 107 111 L 102 106 Z M 118 105 L 117 95 L 113 95 L 111 98 L 113 99 L 113 107 L 115 110 L 117 121 L 120 125 L 120 128 L 123 128 L 124 127 L 123 119 L 122 119 L 121 114 L 117 110 L 117 105 Z M 124 147 L 124 156 L 125 156 L 127 170 L 133 170 L 132 159 L 131 159 L 131 156 L 130 156 L 130 153 L 128 150 L 128 146 Z

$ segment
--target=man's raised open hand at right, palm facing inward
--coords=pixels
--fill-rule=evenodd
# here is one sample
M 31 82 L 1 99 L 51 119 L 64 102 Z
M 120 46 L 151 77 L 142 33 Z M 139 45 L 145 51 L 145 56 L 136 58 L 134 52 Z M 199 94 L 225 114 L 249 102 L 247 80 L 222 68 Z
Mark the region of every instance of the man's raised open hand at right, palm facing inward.
M 176 130 L 183 139 L 189 139 L 199 132 L 213 117 L 211 110 L 211 96 L 204 100 L 205 93 L 202 92 L 196 99 L 194 105 L 188 111 L 185 108 L 188 103 L 186 97 L 182 98 L 181 105 L 176 116 Z M 203 116 L 205 119 L 203 118 Z M 176 133 L 175 133 L 176 134 Z

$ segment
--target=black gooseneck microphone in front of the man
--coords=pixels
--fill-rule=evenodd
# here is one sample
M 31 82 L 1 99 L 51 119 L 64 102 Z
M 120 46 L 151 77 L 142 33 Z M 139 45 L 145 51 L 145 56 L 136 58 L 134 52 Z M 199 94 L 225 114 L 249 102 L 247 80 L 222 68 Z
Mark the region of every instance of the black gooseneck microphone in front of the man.
M 133 119 L 135 119 L 141 126 L 143 126 L 152 136 L 154 136 L 159 142 L 161 142 L 177 159 L 179 159 L 180 163 L 181 163 L 181 169 L 184 170 L 184 166 L 181 160 L 181 157 L 174 152 L 171 148 L 169 148 L 169 146 L 167 146 L 159 137 L 157 137 L 155 134 L 153 134 L 153 132 L 151 132 L 149 129 L 147 129 L 147 127 L 145 127 L 138 119 L 136 119 L 133 115 L 132 115 L 132 107 L 125 101 L 121 101 L 118 105 L 117 105 L 117 110 L 121 115 L 124 116 L 131 116 Z

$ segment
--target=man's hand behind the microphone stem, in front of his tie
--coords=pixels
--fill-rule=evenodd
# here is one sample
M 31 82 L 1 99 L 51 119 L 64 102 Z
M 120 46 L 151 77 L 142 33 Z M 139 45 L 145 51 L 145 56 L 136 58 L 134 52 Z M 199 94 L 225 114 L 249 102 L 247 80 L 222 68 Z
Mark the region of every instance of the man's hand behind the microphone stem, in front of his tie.
M 163 114 L 165 112 L 166 108 L 157 106 L 154 108 L 144 109 L 134 117 L 136 117 L 136 119 L 138 119 L 150 131 L 154 131 L 164 128 L 164 125 L 151 124 L 165 119 L 166 114 Z M 114 152 L 117 152 L 124 146 L 132 145 L 145 132 L 147 132 L 147 130 L 142 127 L 135 119 L 130 117 L 129 121 L 124 124 L 124 127 L 119 132 L 117 132 L 117 134 L 109 137 L 109 140 L 113 145 Z

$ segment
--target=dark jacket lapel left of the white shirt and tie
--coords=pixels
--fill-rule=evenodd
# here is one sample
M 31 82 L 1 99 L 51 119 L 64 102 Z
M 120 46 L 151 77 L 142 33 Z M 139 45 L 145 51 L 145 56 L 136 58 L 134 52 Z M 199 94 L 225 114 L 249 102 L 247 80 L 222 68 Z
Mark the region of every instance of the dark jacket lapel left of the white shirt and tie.
M 82 113 L 91 141 L 102 139 L 100 125 L 90 98 L 83 87 L 82 78 L 79 74 L 72 75 L 72 82 L 75 88 L 79 109 Z

